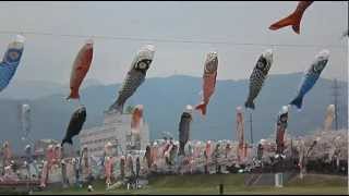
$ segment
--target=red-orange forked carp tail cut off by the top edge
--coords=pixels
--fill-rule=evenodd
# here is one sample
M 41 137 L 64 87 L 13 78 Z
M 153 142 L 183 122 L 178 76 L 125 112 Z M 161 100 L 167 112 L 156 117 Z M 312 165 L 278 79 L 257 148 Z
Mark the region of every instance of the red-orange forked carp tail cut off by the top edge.
M 303 16 L 303 13 L 313 3 L 313 1 L 300 1 L 297 5 L 297 9 L 287 17 L 272 24 L 269 29 L 277 30 L 285 26 L 292 26 L 294 33 L 300 34 L 300 24 Z

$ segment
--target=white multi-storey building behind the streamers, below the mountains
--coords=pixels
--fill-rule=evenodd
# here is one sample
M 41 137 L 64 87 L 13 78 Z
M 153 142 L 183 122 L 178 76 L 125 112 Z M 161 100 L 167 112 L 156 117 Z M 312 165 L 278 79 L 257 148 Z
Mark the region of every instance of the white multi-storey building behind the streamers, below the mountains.
M 83 130 L 79 135 L 81 147 L 86 146 L 92 156 L 103 156 L 105 145 L 110 142 L 119 146 L 118 154 L 120 155 L 120 147 L 123 154 L 132 150 L 145 150 L 149 143 L 148 124 L 143 122 L 141 127 L 141 149 L 140 147 L 131 146 L 131 114 L 117 114 L 105 112 L 105 120 L 101 126 Z

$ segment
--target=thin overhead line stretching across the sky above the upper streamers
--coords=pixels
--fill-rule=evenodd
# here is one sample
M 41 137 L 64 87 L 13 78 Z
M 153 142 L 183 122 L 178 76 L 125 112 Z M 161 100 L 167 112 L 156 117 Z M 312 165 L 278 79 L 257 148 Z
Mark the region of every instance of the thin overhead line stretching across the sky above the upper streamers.
M 56 37 L 75 37 L 75 38 L 93 38 L 93 39 L 109 39 L 109 40 L 129 40 L 129 41 L 153 41 L 153 42 L 180 42 L 180 44 L 200 44 L 200 45 L 230 45 L 230 46 L 268 46 L 268 47 L 291 47 L 291 48 L 340 48 L 345 49 L 345 45 L 297 45 L 297 44 L 255 44 L 255 42 L 236 42 L 230 40 L 193 40 L 193 39 L 164 39 L 164 38 L 144 38 L 144 37 L 128 37 L 128 36 L 103 36 L 103 35 L 74 35 L 74 34 L 53 34 L 43 32 L 16 32 L 16 30 L 0 30 L 4 35 L 40 35 Z

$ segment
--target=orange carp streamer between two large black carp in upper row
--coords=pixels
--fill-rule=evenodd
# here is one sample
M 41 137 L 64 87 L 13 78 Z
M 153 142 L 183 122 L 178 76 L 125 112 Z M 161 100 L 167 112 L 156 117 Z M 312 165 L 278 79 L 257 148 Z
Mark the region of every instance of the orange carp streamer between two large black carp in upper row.
M 208 52 L 205 61 L 205 69 L 203 75 L 203 100 L 195 107 L 196 110 L 201 110 L 202 114 L 206 114 L 206 108 L 210 96 L 215 91 L 216 78 L 218 69 L 217 52 Z

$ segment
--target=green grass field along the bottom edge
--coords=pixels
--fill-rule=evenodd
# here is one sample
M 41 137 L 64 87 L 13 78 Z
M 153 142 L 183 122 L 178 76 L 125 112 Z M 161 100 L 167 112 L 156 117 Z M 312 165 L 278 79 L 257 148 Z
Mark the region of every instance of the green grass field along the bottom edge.
M 184 194 L 197 194 L 197 195 L 217 195 L 219 183 L 225 184 L 224 194 L 336 194 L 348 195 L 347 188 L 348 177 L 335 176 L 335 175 L 318 175 L 309 174 L 303 180 L 298 176 L 285 184 L 284 187 L 274 186 L 252 186 L 246 187 L 244 185 L 244 177 L 242 174 L 225 174 L 225 175 L 177 175 L 177 176 L 158 176 L 149 180 L 149 184 L 137 191 L 128 191 L 124 188 L 106 191 L 105 184 L 99 181 L 95 182 L 95 191 L 88 193 L 86 188 L 53 188 L 45 192 L 37 192 L 35 194 L 106 194 L 106 195 L 135 195 L 135 194 L 154 194 L 154 195 L 184 195 Z

